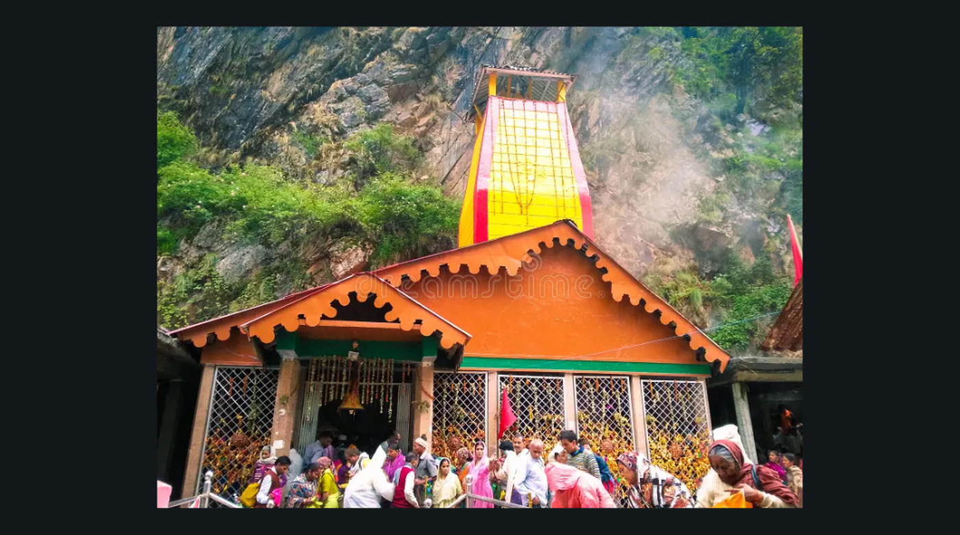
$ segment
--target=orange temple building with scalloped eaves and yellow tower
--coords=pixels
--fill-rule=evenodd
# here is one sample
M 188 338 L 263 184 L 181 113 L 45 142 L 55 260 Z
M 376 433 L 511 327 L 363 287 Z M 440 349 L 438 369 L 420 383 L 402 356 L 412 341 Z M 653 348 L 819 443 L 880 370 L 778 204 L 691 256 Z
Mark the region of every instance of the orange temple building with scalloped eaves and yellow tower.
M 575 77 L 479 76 L 458 248 L 171 333 L 203 368 L 184 496 L 211 470 L 229 498 L 264 445 L 302 453 L 320 430 L 495 450 L 504 391 L 526 440 L 572 429 L 688 485 L 707 473 L 705 380 L 730 356 L 592 241 Z

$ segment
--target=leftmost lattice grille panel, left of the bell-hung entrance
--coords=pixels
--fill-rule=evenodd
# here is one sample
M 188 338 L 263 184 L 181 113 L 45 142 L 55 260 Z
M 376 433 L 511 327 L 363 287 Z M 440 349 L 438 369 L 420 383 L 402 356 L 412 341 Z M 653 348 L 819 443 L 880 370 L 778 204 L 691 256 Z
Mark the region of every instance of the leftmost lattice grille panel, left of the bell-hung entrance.
M 214 494 L 234 500 L 243 493 L 260 449 L 271 445 L 278 379 L 277 368 L 217 366 L 200 471 L 213 472 Z M 198 493 L 200 484 L 198 477 Z

